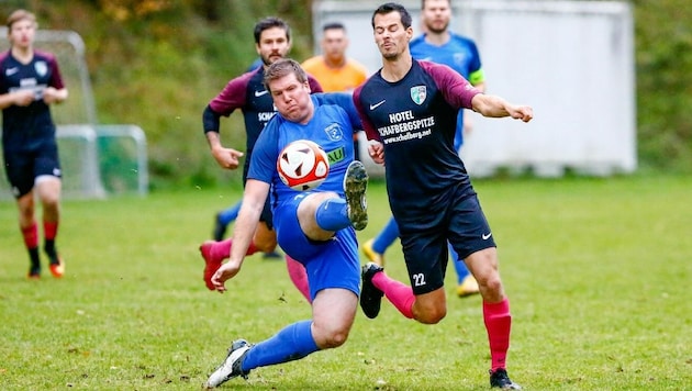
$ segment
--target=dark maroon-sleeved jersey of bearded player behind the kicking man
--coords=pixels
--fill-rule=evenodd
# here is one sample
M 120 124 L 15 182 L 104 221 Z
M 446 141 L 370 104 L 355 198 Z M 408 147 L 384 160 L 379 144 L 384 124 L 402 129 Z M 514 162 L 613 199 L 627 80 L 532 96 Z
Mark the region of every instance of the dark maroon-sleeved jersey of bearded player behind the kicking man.
M 247 133 L 243 178 L 247 174 L 257 137 L 276 114 L 276 108 L 271 94 L 265 88 L 264 78 L 265 69 L 260 66 L 228 81 L 226 87 L 209 102 L 209 107 L 220 115 L 228 116 L 236 109 L 243 111 Z M 322 92 L 322 87 L 315 78 L 309 76 L 308 81 L 312 92 Z

